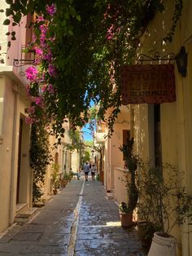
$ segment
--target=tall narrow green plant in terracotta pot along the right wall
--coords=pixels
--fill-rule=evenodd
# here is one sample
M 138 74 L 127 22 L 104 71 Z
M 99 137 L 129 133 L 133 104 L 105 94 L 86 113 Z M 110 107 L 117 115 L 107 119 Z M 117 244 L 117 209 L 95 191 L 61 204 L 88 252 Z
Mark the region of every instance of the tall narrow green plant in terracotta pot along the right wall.
M 138 189 L 136 185 L 137 157 L 133 154 L 133 138 L 127 139 L 127 143 L 120 147 L 120 151 L 124 154 L 124 170 L 125 183 L 127 189 L 128 202 L 121 202 L 119 211 L 122 227 L 130 227 L 133 225 L 133 210 L 136 209 L 138 199 Z M 122 223 L 122 219 L 128 218 L 128 222 Z

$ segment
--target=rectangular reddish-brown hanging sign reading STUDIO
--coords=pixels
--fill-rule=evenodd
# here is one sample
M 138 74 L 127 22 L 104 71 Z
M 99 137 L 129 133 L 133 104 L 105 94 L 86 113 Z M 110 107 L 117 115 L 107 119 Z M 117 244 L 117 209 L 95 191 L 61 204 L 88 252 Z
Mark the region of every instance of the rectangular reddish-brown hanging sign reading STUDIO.
M 162 104 L 176 100 L 173 64 L 121 67 L 122 104 Z

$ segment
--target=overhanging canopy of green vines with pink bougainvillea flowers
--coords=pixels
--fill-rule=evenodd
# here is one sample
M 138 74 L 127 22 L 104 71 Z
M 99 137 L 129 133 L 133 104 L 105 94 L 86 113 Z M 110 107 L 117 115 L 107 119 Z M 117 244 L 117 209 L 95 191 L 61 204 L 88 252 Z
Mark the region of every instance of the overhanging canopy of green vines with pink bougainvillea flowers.
M 175 0 L 177 18 L 182 1 Z M 6 0 L 7 20 L 19 24 L 31 14 L 36 51 L 35 67 L 27 70 L 28 123 L 44 119 L 51 130 L 63 134 L 62 123 L 89 121 L 90 100 L 99 102 L 98 117 L 112 125 L 120 113 L 120 65 L 131 64 L 146 25 L 163 11 L 160 0 Z M 177 8 L 178 9 L 178 8 Z M 172 28 L 174 30 L 174 28 Z M 16 35 L 11 33 L 14 40 Z

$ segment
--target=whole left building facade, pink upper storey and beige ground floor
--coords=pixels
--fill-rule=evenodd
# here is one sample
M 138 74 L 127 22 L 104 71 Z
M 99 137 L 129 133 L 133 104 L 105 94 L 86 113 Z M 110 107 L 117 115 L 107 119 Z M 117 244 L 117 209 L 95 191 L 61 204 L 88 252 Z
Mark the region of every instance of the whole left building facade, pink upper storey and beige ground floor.
M 1 1 L 2 9 L 7 4 Z M 30 29 L 25 17 L 20 27 L 2 25 L 6 15 L 0 16 L 0 232 L 14 222 L 20 208 L 32 206 L 33 173 L 29 166 L 30 126 L 25 123 L 25 108 L 30 104 L 25 92 L 24 67 L 15 67 L 21 59 L 22 46 L 28 43 Z M 16 33 L 16 40 L 7 32 Z

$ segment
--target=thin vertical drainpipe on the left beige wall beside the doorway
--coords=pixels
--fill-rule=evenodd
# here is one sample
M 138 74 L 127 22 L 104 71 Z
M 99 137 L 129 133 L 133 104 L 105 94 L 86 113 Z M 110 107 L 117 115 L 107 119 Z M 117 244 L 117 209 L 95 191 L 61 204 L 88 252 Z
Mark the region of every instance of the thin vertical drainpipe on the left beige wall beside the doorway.
M 15 93 L 14 99 L 14 116 L 13 116 L 13 133 L 12 133 L 12 152 L 11 152 L 11 188 L 10 188 L 10 223 L 14 223 L 14 204 L 15 204 L 15 148 L 16 148 L 16 121 L 17 121 L 17 102 L 19 98 L 18 86 L 13 85 L 12 90 Z

